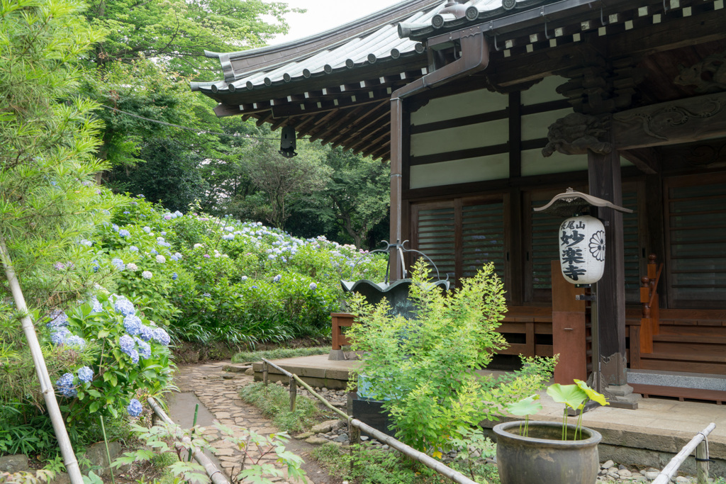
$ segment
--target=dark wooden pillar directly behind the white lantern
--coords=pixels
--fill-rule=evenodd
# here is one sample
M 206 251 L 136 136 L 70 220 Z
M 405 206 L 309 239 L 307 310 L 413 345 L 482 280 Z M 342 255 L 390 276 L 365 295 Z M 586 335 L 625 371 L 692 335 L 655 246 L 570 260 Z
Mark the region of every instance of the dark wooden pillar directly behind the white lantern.
M 613 149 L 606 155 L 587 150 L 590 194 L 622 205 L 620 157 Z M 597 336 L 599 366 L 605 385 L 627 385 L 625 355 L 625 262 L 623 214 L 600 208 L 597 217 L 605 225 L 605 272 L 597 282 Z

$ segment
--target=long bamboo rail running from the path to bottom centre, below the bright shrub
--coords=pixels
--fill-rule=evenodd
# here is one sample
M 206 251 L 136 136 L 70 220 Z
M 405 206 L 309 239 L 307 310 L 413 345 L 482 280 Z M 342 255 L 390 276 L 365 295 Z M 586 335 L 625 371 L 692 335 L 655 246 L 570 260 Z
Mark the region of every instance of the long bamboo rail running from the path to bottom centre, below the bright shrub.
M 388 444 L 388 446 L 395 448 L 396 451 L 401 452 L 401 454 L 404 454 L 404 456 L 407 456 L 411 459 L 417 460 L 421 464 L 424 464 L 426 467 L 429 467 L 430 469 L 435 470 L 436 472 L 439 472 L 439 474 L 449 477 L 449 479 L 453 480 L 454 483 L 459 484 L 477 484 L 475 481 L 470 480 L 468 477 L 463 475 L 461 472 L 457 472 L 451 467 L 448 467 L 441 462 L 437 461 L 436 459 L 433 459 L 433 457 L 428 456 L 424 454 L 423 452 L 417 451 L 415 448 L 412 448 L 410 446 L 407 446 L 405 443 L 396 440 L 395 438 L 391 437 L 390 435 L 386 435 L 383 432 L 380 432 L 380 430 L 375 430 L 373 427 L 371 427 L 368 424 L 364 424 L 359 419 L 354 419 L 353 417 L 346 414 L 344 411 L 340 409 L 336 409 L 329 401 L 325 400 L 319 393 L 317 393 L 315 390 L 313 390 L 310 385 L 308 385 L 306 382 L 303 382 L 298 375 L 294 373 L 287 372 L 287 370 L 280 368 L 280 366 L 277 366 L 276 364 L 272 363 L 272 361 L 268 361 L 265 358 L 262 358 L 263 361 L 263 367 L 266 365 L 270 365 L 273 368 L 279 370 L 283 374 L 287 374 L 288 376 L 291 376 L 297 381 L 300 385 L 302 385 L 306 390 L 308 390 L 311 395 L 314 395 L 319 401 L 322 402 L 323 405 L 327 406 L 328 409 L 333 410 L 336 414 L 340 415 L 340 417 L 343 417 L 343 419 L 348 422 L 348 426 L 356 427 L 363 432 L 366 432 L 368 435 L 370 435 L 372 438 L 376 438 L 380 440 L 381 442 L 385 442 Z

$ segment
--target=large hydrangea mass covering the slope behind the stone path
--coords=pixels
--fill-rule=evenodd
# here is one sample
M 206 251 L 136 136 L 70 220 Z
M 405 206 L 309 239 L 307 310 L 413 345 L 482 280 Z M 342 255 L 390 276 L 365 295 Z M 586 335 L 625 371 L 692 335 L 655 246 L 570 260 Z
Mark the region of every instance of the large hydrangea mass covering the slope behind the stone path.
M 129 198 L 93 245 L 115 290 L 182 340 L 232 344 L 330 334 L 340 279 L 383 279 L 386 260 L 260 222 L 170 213 Z M 110 261 L 110 262 L 104 262 Z

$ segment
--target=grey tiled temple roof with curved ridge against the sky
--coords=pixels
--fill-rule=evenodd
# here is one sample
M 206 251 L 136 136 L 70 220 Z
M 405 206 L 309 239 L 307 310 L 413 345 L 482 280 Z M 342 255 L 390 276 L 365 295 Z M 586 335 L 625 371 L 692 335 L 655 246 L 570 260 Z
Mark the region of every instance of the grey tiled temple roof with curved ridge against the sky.
M 219 58 L 224 81 L 192 83 L 192 89 L 232 93 L 422 54 L 425 47 L 412 38 L 423 39 L 436 35 L 440 29 L 481 23 L 542 0 L 469 0 L 461 7 L 466 15 L 459 18 L 439 14 L 446 3 L 443 0 L 402 1 L 360 20 L 280 46 L 242 52 L 207 52 L 208 57 Z

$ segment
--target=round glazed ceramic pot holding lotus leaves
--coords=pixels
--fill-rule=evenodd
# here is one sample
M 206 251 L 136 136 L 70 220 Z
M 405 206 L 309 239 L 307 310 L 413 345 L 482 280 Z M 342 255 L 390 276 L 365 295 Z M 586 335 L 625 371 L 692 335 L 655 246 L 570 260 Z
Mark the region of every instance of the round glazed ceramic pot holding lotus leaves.
M 600 469 L 597 443 L 603 436 L 582 427 L 581 440 L 560 440 L 562 424 L 529 422 L 529 435 L 519 435 L 523 422 L 494 427 L 497 467 L 502 484 L 594 484 Z M 568 424 L 568 437 L 575 433 Z

